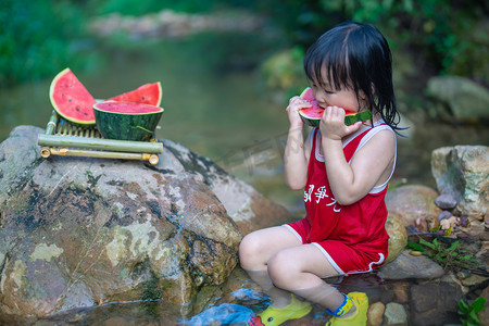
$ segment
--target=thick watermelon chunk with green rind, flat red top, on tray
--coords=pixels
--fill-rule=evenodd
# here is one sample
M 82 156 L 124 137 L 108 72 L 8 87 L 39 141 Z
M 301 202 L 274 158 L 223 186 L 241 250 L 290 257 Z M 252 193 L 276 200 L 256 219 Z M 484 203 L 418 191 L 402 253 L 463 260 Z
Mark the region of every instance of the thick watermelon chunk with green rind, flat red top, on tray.
M 163 108 L 105 101 L 93 105 L 97 128 L 104 138 L 145 141 L 151 139 L 163 114 Z

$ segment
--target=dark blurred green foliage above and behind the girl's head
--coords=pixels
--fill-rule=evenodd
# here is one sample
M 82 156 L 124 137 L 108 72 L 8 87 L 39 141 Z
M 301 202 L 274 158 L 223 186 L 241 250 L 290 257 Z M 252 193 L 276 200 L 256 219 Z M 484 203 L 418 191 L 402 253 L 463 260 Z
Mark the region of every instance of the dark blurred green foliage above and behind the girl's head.
M 256 8 L 268 12 L 292 43 L 309 46 L 339 22 L 372 23 L 391 46 L 418 51 L 438 72 L 489 83 L 489 24 L 484 1 L 275 0 L 259 2 Z

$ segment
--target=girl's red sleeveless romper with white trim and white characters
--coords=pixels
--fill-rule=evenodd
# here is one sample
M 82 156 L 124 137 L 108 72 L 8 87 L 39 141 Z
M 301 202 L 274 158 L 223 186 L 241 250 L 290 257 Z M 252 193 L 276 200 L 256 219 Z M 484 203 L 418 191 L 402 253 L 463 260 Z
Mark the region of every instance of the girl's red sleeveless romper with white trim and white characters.
M 343 142 L 347 162 L 350 163 L 355 151 L 371 137 L 386 128 L 392 130 L 377 122 L 374 128 L 350 136 Z M 329 187 L 325 156 L 319 154 L 321 131 L 315 128 L 312 133 L 312 150 L 304 189 L 306 215 L 286 226 L 302 243 L 315 244 L 339 274 L 371 272 L 387 258 L 389 236 L 385 228 L 387 209 L 384 201 L 387 181 L 372 189 L 358 202 L 340 205 Z

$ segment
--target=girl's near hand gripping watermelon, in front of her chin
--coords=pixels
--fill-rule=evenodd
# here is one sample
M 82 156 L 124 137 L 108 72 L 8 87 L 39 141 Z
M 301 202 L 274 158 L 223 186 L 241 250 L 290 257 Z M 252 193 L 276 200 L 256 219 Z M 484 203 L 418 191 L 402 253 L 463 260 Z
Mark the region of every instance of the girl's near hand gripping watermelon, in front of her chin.
M 356 131 L 362 122 L 347 126 L 344 124 L 344 110 L 338 106 L 328 106 L 324 110 L 319 129 L 322 137 L 333 140 L 341 140 L 343 137 Z

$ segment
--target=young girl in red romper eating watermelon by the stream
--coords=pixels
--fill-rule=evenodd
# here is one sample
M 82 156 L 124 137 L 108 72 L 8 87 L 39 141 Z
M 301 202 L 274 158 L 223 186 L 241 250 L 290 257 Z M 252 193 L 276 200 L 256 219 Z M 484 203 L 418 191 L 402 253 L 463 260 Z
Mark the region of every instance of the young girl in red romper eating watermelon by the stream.
M 366 294 L 343 294 L 323 278 L 371 272 L 387 258 L 384 198 L 400 121 L 391 53 L 375 27 L 347 22 L 311 46 L 304 70 L 325 111 L 303 141 L 298 111 L 310 104 L 290 99 L 284 164 L 287 185 L 304 189 L 306 216 L 241 241 L 242 268 L 272 299 L 250 324 L 279 325 L 306 315 L 312 308 L 301 297 L 333 315 L 327 325 L 365 325 Z M 369 121 L 344 124 L 346 112 L 364 110 L 372 110 Z

